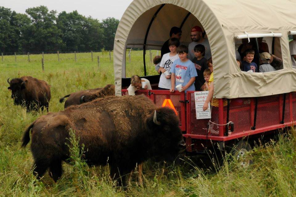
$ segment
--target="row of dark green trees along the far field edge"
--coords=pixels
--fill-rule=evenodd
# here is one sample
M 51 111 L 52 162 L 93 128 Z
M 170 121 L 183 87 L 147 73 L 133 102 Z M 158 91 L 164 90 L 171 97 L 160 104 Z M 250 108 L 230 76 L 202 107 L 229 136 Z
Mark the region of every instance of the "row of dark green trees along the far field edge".
M 0 6 L 0 52 L 113 50 L 118 23 L 113 17 L 99 22 L 77 10 L 57 14 L 38 6 L 21 14 Z

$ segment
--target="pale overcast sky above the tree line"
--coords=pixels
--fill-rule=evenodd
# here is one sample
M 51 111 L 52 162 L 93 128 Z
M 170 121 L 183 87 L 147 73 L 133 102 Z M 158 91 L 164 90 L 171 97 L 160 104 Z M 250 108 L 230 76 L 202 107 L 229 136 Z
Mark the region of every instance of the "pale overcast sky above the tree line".
M 84 16 L 92 16 L 94 19 L 114 17 L 121 19 L 126 8 L 133 0 L 10 0 L 1 1 L 0 6 L 10 8 L 18 13 L 25 13 L 27 8 L 47 6 L 48 10 L 72 12 L 77 10 Z

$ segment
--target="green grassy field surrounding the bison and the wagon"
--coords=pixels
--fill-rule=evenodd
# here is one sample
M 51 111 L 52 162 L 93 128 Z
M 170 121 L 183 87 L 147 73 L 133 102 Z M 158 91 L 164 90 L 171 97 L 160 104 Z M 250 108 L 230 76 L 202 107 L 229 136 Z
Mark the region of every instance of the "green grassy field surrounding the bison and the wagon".
M 90 53 L 77 54 L 77 62 L 74 54 L 60 54 L 60 62 L 56 54 L 45 55 L 44 72 L 41 55 L 31 55 L 30 63 L 20 61 L 21 57 L 14 62 L 14 56 L 5 56 L 4 62 L 0 62 L 0 196 L 296 196 L 294 129 L 278 136 L 276 143 L 255 146 L 247 156 L 254 164 L 246 168 L 241 168 L 228 154 L 221 158 L 224 165 L 211 162 L 208 156 L 185 158 L 180 165 L 148 161 L 143 167 L 144 186 L 132 182 L 132 186 L 123 190 L 109 178 L 108 166 L 85 165 L 79 149 L 73 146 L 74 165 L 63 164 L 64 175 L 57 183 L 47 174 L 42 181 L 36 181 L 31 171 L 30 146 L 21 149 L 20 139 L 25 128 L 42 113 L 26 113 L 20 106 L 14 106 L 6 80 L 27 75 L 44 79 L 51 85 L 49 110 L 60 111 L 64 108 L 64 103 L 59 103 L 60 97 L 113 83 L 109 53 L 94 53 L 94 57 L 97 55 L 101 60 L 99 67 L 96 58 L 91 61 Z M 131 63 L 128 58 L 127 62 L 128 77 L 143 75 L 142 51 L 132 51 Z M 146 62 L 147 73 L 155 74 L 149 52 Z M 77 145 L 75 136 L 72 145 Z

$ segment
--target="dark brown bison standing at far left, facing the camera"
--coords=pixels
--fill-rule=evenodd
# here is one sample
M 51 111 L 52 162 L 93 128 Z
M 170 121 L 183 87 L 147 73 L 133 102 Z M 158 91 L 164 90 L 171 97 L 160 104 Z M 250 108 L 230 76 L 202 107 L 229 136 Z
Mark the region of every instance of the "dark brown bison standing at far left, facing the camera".
M 38 111 L 41 107 L 46 107 L 48 112 L 48 103 L 50 101 L 50 86 L 47 82 L 33 77 L 14 78 L 9 81 L 8 89 L 11 90 L 11 98 L 15 105 L 21 105 L 30 110 Z

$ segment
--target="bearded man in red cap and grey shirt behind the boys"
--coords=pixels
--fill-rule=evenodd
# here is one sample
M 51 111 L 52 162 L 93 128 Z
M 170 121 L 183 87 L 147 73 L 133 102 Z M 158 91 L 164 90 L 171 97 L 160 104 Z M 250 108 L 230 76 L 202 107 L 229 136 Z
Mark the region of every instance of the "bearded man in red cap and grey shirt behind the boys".
M 191 61 L 193 60 L 194 56 L 194 47 L 197 44 L 202 44 L 204 45 L 205 48 L 205 54 L 204 57 L 208 60 L 210 59 L 210 57 L 212 57 L 211 55 L 211 49 L 210 49 L 210 44 L 208 39 L 203 37 L 203 32 L 202 29 L 199 26 L 195 26 L 191 29 L 191 40 L 192 42 L 188 45 L 188 59 L 190 59 Z

